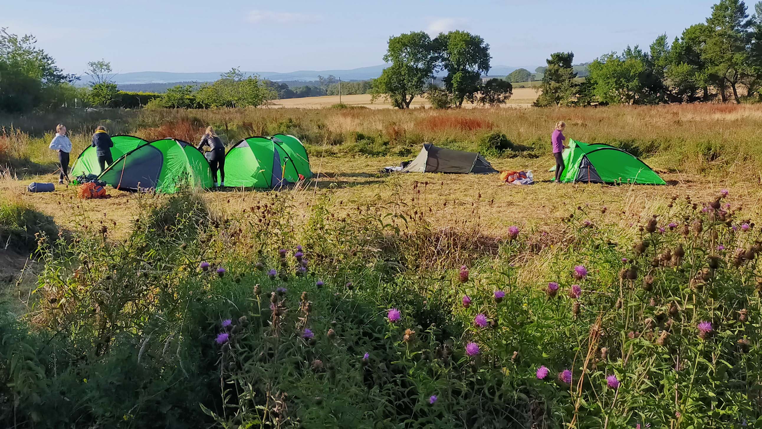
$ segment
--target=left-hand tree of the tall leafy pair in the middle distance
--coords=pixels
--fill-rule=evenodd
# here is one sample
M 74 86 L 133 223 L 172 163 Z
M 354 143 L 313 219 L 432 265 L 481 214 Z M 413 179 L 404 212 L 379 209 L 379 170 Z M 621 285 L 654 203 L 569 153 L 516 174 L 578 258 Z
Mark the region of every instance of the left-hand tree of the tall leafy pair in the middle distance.
M 392 66 L 373 81 L 373 98 L 385 95 L 395 107 L 408 109 L 415 97 L 424 94 L 427 81 L 434 77 L 437 56 L 431 37 L 423 31 L 389 37 L 383 59 Z

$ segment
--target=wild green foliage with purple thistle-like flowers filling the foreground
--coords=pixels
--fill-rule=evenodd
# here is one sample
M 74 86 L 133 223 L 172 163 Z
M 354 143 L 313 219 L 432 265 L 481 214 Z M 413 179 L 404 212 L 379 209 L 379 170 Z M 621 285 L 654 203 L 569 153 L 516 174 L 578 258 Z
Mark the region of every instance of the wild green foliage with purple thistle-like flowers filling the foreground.
M 43 241 L 36 329 L 0 319 L 5 426 L 762 424 L 760 232 L 722 196 L 481 255 L 401 207 L 150 198 L 125 242 Z

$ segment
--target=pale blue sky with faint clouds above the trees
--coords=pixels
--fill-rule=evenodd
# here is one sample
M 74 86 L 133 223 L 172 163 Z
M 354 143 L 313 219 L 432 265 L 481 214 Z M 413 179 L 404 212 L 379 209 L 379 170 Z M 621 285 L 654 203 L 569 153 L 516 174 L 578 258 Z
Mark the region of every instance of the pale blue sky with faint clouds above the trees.
M 648 46 L 703 22 L 712 0 L 4 0 L 0 27 L 34 34 L 67 72 L 93 59 L 115 72 L 256 72 L 354 69 L 382 63 L 389 36 L 468 30 L 492 64 L 539 66 L 571 50 L 589 61 Z M 750 3 L 751 5 L 751 3 Z

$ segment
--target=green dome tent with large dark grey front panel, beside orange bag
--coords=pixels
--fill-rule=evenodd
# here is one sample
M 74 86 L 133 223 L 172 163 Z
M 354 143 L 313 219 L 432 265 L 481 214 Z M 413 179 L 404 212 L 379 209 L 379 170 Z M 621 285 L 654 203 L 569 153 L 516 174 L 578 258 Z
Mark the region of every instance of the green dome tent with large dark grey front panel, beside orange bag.
M 118 189 L 153 188 L 164 194 L 184 186 L 212 187 L 207 158 L 191 143 L 178 139 L 155 140 L 126 152 L 98 178 Z

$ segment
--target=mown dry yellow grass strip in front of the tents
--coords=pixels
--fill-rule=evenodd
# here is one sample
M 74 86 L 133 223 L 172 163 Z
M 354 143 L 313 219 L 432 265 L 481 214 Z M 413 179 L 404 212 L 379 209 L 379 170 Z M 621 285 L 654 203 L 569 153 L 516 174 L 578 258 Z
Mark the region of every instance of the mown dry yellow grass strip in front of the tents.
M 638 216 L 663 213 L 669 197 L 678 195 L 696 201 L 707 201 L 720 189 L 728 188 L 733 201 L 744 204 L 749 215 L 762 213 L 762 188 L 754 181 L 716 181 L 691 174 L 662 173 L 674 186 L 604 186 L 597 184 L 552 184 L 546 171 L 551 158 L 498 160 L 498 169 L 533 170 L 539 183 L 533 186 L 501 184 L 497 174 L 379 174 L 386 165 L 396 165 L 402 158 L 313 158 L 312 169 L 319 178 L 309 181 L 298 190 L 266 192 L 261 190 L 228 189 L 205 192 L 204 197 L 213 210 L 242 211 L 275 195 L 288 194 L 293 198 L 300 216 L 306 216 L 309 206 L 321 197 L 330 197 L 339 213 L 369 203 L 388 203 L 389 210 L 409 206 L 423 211 L 434 226 L 451 226 L 456 219 L 479 219 L 485 233 L 502 236 L 507 226 L 542 228 L 555 225 L 579 206 L 597 213 L 607 206 L 606 216 L 612 222 L 637 222 Z M 37 181 L 53 181 L 53 175 Z M 79 230 L 90 223 L 106 224 L 114 237 L 126 231 L 139 213 L 139 200 L 149 198 L 109 188 L 110 197 L 104 200 L 78 200 L 73 187 L 59 187 L 52 194 L 29 194 L 24 188 L 32 181 L 5 180 L 0 182 L 0 197 L 21 198 L 56 219 L 61 226 Z M 158 196 L 155 198 L 165 198 Z M 622 212 L 626 212 L 623 218 Z M 592 216 L 592 215 L 591 215 Z M 599 216 L 599 215 L 595 215 Z M 634 217 L 633 217 L 634 216 Z M 630 220 L 632 219 L 632 220 Z M 305 219 L 295 219 L 303 222 Z

